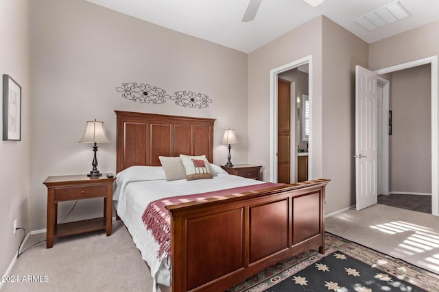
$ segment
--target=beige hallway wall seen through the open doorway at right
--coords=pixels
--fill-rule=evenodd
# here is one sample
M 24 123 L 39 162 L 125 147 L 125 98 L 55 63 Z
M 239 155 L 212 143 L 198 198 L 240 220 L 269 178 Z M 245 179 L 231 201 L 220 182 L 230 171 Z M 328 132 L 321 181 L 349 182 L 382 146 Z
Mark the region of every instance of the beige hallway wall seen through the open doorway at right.
M 392 72 L 390 191 L 431 193 L 431 67 Z

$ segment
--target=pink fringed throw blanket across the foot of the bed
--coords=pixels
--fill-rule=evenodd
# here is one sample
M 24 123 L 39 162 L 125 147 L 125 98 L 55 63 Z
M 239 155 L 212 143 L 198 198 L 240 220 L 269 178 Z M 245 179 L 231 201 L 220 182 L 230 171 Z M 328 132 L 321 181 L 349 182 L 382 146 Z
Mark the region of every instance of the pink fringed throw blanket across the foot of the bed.
M 218 196 L 226 196 L 230 194 L 243 193 L 245 191 L 256 191 L 258 189 L 268 189 L 269 187 L 277 187 L 279 183 L 261 183 L 257 185 L 247 185 L 245 187 L 234 187 L 232 189 L 219 189 L 217 191 L 209 191 L 202 194 L 193 194 L 187 196 L 176 196 L 163 198 L 150 202 L 143 212 L 142 219 L 147 230 L 152 231 L 154 239 L 160 245 L 157 257 L 161 258 L 163 254 L 169 256 L 171 252 L 171 220 L 170 215 L 165 206 L 171 204 L 180 204 L 182 202 L 191 202 Z

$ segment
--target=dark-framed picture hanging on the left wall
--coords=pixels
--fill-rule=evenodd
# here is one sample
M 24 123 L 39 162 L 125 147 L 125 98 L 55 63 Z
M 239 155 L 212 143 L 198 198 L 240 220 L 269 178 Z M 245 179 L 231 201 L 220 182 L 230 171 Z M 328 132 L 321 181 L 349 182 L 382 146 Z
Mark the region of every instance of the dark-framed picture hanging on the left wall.
M 3 74 L 3 140 L 21 140 L 21 86 Z

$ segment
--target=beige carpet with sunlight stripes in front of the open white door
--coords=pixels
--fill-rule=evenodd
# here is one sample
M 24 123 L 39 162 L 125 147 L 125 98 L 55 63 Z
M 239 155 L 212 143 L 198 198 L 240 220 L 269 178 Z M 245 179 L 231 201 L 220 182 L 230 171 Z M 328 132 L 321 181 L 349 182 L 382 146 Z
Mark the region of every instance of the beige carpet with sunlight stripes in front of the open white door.
M 439 217 L 375 204 L 326 220 L 326 230 L 439 274 Z

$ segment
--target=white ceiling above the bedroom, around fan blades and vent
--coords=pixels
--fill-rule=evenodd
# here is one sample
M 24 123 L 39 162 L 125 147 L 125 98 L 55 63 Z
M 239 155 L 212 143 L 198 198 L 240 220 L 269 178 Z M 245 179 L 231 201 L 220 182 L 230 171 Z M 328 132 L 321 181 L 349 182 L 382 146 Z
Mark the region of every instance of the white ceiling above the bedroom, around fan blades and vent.
M 396 0 L 263 0 L 254 21 L 241 22 L 248 0 L 86 0 L 226 47 L 250 53 L 318 15 L 371 43 L 439 20 L 438 0 L 399 0 L 412 16 L 367 31 L 355 19 Z M 439 33 L 439 32 L 438 32 Z

